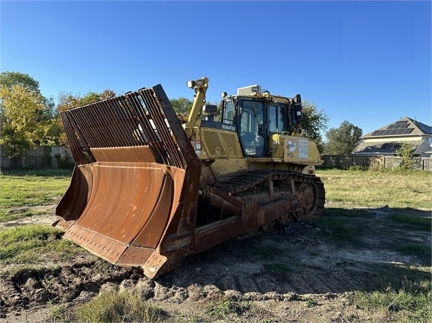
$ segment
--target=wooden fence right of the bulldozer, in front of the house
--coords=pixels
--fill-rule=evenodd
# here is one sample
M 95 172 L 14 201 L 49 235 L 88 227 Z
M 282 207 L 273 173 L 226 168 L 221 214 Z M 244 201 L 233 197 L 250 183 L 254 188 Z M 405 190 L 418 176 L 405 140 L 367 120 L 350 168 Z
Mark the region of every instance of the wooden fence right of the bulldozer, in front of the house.
M 360 166 L 371 169 L 393 169 L 402 164 L 400 156 L 383 155 L 323 155 L 324 164 L 320 168 L 349 169 Z M 413 168 L 417 171 L 432 171 L 432 157 L 414 157 Z

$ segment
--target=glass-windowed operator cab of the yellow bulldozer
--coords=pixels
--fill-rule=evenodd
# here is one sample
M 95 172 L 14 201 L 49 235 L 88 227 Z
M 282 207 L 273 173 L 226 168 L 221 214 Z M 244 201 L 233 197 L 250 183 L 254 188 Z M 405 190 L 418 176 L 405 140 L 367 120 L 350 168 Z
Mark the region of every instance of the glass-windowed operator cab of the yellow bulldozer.
M 301 98 L 270 95 L 261 86 L 246 86 L 237 95 L 222 93 L 224 124 L 235 126 L 245 157 L 269 157 L 269 138 L 293 133 L 301 119 Z

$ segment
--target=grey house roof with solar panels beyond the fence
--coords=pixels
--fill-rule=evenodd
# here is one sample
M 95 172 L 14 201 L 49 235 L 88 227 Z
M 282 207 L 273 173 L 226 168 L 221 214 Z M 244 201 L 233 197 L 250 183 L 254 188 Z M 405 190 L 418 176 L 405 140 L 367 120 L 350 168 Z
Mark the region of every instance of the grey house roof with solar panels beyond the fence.
M 391 136 L 419 136 L 419 135 L 431 135 L 432 128 L 427 124 L 411 119 L 409 117 L 402 118 L 393 124 L 388 124 L 375 131 L 367 133 L 362 138 L 379 138 L 379 137 L 391 137 Z

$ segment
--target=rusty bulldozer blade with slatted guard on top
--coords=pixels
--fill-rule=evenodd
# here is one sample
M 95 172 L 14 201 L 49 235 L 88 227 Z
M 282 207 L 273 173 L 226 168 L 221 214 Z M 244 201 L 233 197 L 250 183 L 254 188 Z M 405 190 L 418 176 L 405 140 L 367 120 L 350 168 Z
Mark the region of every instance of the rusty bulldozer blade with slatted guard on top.
M 191 251 L 201 164 L 162 86 L 61 113 L 75 159 L 65 239 L 155 278 Z

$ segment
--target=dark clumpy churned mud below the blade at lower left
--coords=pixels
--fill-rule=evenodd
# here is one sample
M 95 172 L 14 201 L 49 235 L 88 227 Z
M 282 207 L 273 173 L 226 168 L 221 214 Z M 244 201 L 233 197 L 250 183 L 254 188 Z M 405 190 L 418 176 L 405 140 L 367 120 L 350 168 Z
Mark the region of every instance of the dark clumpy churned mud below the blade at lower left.
M 103 260 L 53 269 L 24 269 L 0 277 L 0 317 L 47 303 L 82 303 L 104 286 L 121 286 L 127 279 L 143 278 L 141 268 L 118 268 Z M 117 287 L 116 287 L 117 288 Z

